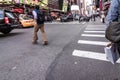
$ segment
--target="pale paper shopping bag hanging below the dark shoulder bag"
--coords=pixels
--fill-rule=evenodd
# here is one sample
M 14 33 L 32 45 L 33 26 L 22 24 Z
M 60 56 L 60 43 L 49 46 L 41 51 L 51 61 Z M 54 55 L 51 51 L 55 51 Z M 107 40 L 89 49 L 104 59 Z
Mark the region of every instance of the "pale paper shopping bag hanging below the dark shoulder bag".
M 108 59 L 112 64 L 115 64 L 120 58 L 119 47 L 120 45 L 118 44 L 112 44 L 104 48 L 106 59 Z

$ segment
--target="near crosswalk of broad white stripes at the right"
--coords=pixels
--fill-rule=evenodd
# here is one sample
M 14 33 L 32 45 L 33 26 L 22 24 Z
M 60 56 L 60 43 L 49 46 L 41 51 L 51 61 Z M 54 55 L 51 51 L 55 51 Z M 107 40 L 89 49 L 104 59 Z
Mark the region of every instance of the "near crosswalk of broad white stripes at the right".
M 83 34 L 81 34 L 81 39 L 78 40 L 77 44 L 78 45 L 91 45 L 92 46 L 102 46 L 103 50 L 105 45 L 107 45 L 109 42 L 101 40 L 101 38 L 105 38 L 105 25 L 88 25 Z M 87 38 L 85 40 L 83 37 Z M 99 38 L 98 40 L 89 40 L 89 38 Z M 100 41 L 101 40 L 101 41 Z M 83 57 L 83 58 L 89 58 L 89 59 L 95 59 L 95 60 L 101 60 L 101 61 L 108 61 L 106 59 L 104 51 L 101 52 L 95 52 L 95 51 L 87 51 L 87 50 L 82 50 L 82 49 L 74 49 L 72 52 L 73 56 L 77 57 Z M 120 63 L 120 60 L 117 61 L 117 63 Z

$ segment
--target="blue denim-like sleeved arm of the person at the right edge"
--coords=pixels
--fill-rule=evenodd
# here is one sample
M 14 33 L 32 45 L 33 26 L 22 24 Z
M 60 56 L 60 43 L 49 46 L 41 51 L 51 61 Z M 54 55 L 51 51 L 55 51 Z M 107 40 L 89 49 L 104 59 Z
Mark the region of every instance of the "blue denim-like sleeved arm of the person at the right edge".
M 110 8 L 106 17 L 106 24 L 109 25 L 110 22 L 115 21 L 118 18 L 118 7 L 119 7 L 118 0 L 112 0 L 110 4 Z

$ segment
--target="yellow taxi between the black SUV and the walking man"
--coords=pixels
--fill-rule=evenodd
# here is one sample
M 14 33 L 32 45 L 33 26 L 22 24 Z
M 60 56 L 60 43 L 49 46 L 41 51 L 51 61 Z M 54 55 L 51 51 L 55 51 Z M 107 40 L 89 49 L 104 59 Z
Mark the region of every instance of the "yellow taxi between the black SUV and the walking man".
M 33 27 L 34 26 L 34 20 L 25 14 L 19 15 L 19 20 L 22 24 L 22 27 Z

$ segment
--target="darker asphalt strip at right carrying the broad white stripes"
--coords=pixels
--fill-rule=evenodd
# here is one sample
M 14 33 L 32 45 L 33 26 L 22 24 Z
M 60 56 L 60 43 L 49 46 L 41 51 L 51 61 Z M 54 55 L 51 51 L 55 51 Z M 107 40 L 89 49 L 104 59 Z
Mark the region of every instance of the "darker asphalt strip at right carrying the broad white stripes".
M 66 45 L 47 70 L 46 80 L 120 80 L 120 59 L 106 59 L 105 25 L 90 22 Z

